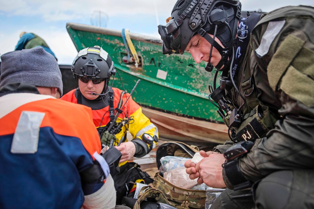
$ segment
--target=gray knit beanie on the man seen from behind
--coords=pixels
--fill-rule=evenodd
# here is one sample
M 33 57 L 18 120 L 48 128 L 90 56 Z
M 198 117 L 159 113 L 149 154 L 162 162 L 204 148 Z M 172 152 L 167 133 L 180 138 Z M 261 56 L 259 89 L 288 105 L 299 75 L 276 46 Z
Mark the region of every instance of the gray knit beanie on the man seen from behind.
M 62 95 L 62 77 L 56 59 L 42 47 L 11 51 L 1 56 L 0 88 L 8 83 L 27 83 L 58 88 Z

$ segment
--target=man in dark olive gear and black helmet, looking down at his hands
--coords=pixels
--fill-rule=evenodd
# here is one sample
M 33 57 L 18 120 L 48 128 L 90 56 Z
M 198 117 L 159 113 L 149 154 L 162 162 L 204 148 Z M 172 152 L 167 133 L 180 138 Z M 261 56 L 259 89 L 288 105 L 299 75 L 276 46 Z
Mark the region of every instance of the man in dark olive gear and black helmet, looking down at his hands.
M 185 163 L 191 179 L 227 187 L 211 208 L 313 208 L 314 8 L 246 19 L 238 0 L 179 0 L 167 21 L 164 54 L 221 72 L 210 98 L 231 141 Z

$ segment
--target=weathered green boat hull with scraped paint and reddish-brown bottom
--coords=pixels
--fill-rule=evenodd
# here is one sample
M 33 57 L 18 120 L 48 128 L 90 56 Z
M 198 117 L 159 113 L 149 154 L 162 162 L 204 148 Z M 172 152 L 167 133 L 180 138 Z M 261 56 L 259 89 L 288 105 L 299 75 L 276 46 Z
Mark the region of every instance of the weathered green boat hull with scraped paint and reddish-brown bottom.
M 126 90 L 141 79 L 132 97 L 144 107 L 163 111 L 145 113 L 156 121 L 162 138 L 211 142 L 228 138 L 225 125 L 218 124 L 221 119 L 216 108 L 208 101 L 208 84 L 213 83 L 214 74 L 204 70 L 205 63 L 195 63 L 190 53 L 163 55 L 161 40 L 130 33 L 140 59 L 135 67 L 122 61 L 127 50 L 121 31 L 76 23 L 67 23 L 67 30 L 78 51 L 98 45 L 109 53 Z M 123 89 L 117 75 L 114 86 Z M 215 134 L 214 129 L 218 130 Z

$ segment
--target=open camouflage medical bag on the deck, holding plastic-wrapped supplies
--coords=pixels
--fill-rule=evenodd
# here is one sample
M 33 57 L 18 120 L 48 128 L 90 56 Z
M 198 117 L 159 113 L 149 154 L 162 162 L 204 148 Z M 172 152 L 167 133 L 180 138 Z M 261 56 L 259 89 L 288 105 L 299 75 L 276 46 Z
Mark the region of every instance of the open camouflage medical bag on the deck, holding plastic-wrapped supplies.
M 198 147 L 189 146 L 182 142 L 165 142 L 157 149 L 156 162 L 161 166 L 160 158 L 165 156 L 179 156 L 192 158 Z M 204 208 L 206 200 L 205 190 L 183 189 L 165 180 L 161 173 L 157 173 L 152 184 L 141 189 L 138 200 L 133 209 L 140 209 L 140 203 L 146 198 L 153 198 L 179 209 Z

